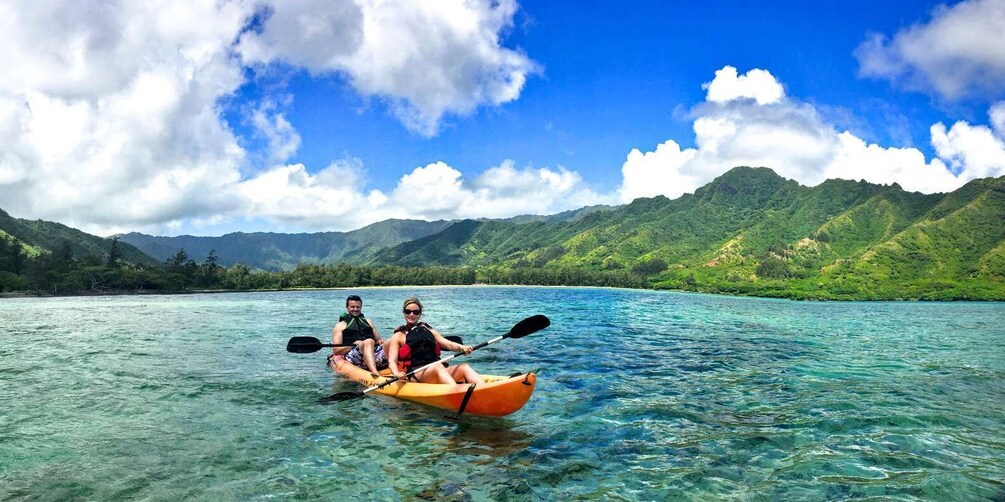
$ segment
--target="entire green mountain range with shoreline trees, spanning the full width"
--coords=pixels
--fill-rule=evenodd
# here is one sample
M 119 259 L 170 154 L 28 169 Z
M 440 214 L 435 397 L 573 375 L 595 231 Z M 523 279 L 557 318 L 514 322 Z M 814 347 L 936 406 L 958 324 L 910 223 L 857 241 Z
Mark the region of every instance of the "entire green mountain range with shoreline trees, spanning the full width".
M 547 217 L 387 220 L 345 233 L 119 237 L 123 261 L 167 264 L 147 275 L 116 272 L 115 280 L 102 282 L 112 287 L 332 287 L 351 278 L 398 284 L 422 276 L 415 283 L 462 277 L 464 283 L 791 298 L 1005 300 L 1005 177 L 926 195 L 845 180 L 804 187 L 769 169 L 736 168 L 674 200 L 637 199 Z M 103 277 L 91 272 L 63 283 L 18 274 L 26 260 L 46 253 L 56 255 L 50 260 L 56 264 L 66 263 L 68 253 L 90 257 L 84 267 L 100 263 L 112 246 L 110 239 L 0 211 L 0 272 L 7 274 L 0 282 L 9 289 L 93 289 Z M 181 249 L 194 260 L 214 251 L 217 261 L 190 263 L 178 258 Z M 33 263 L 36 272 L 46 266 Z M 246 266 L 217 266 L 238 263 Z M 274 272 L 249 275 L 248 267 Z

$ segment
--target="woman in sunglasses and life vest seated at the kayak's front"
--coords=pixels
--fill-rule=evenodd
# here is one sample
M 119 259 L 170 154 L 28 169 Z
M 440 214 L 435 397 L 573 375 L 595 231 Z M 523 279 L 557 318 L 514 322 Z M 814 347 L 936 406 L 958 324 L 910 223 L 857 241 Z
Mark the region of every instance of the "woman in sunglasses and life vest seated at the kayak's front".
M 429 364 L 429 367 L 412 378 L 425 384 L 456 384 L 462 381 L 471 384 L 485 383 L 466 362 L 451 367 L 445 367 L 439 362 L 441 347 L 466 354 L 471 353 L 471 346 L 450 341 L 432 326 L 420 321 L 422 302 L 418 298 L 413 296 L 405 300 L 402 313 L 405 315 L 405 324 L 395 328 L 387 343 L 388 365 L 395 376 L 404 378 L 405 373 Z M 398 362 L 404 366 L 404 371 L 398 367 Z

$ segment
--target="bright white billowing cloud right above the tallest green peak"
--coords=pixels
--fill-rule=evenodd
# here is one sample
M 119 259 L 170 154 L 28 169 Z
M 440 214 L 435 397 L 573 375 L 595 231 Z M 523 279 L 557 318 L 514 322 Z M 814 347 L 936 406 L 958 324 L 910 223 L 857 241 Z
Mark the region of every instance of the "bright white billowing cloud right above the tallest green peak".
M 942 123 L 933 126 L 939 158 L 928 161 L 918 149 L 884 148 L 838 131 L 811 104 L 787 97 L 781 83 L 763 69 L 738 76 L 726 66 L 703 87 L 707 100 L 692 109 L 695 148 L 681 150 L 669 140 L 653 152 L 632 150 L 621 168 L 621 202 L 678 197 L 737 166 L 768 167 L 808 186 L 840 178 L 897 183 L 926 193 L 1005 175 L 1005 101 L 989 113 L 997 137 L 992 128 L 965 121 L 949 131 Z

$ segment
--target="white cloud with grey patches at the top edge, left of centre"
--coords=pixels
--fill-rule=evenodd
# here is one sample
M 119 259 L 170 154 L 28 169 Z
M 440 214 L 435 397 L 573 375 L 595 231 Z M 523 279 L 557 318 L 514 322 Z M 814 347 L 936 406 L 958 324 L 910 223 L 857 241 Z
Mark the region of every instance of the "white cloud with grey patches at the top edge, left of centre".
M 275 2 L 259 32 L 241 37 L 249 63 L 286 62 L 348 76 L 384 98 L 410 130 L 434 136 L 445 114 L 467 114 L 520 96 L 537 71 L 504 47 L 515 0 Z

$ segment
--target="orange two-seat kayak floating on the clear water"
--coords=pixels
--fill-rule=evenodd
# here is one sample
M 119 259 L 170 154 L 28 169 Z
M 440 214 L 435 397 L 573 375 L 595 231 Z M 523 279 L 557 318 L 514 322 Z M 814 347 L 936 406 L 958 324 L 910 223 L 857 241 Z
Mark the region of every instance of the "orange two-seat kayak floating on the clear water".
M 356 366 L 341 355 L 333 357 L 332 368 L 350 380 L 364 386 L 373 387 L 390 379 L 390 371 L 383 370 L 376 379 L 370 371 Z M 419 403 L 457 415 L 477 415 L 481 417 L 502 417 L 510 415 L 527 404 L 538 383 L 533 372 L 513 376 L 482 374 L 483 385 L 473 384 L 419 384 L 416 382 L 395 382 L 374 391 L 400 400 Z

